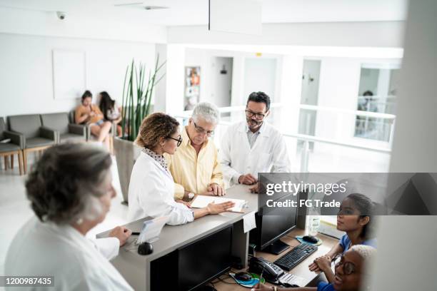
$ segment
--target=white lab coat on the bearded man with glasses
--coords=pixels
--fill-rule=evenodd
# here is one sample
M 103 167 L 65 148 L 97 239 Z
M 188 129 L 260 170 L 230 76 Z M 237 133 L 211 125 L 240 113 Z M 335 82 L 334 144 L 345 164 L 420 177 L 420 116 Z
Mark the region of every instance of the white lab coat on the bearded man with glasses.
M 221 139 L 220 157 L 223 176 L 229 185 L 240 175 L 251 173 L 289 173 L 290 158 L 282 134 L 264 122 L 253 147 L 248 143 L 246 121 L 229 126 Z

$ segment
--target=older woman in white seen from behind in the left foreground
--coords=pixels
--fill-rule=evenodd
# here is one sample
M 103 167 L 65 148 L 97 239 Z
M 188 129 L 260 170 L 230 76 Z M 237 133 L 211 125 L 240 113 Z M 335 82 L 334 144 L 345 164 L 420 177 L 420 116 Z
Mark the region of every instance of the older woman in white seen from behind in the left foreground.
M 116 195 L 110 166 L 109 153 L 92 146 L 46 150 L 26 181 L 35 216 L 12 241 L 5 275 L 53 276 L 54 285 L 38 290 L 132 290 L 109 262 L 131 231 L 117 227 L 110 238 L 94 242 L 85 237 L 104 220 Z

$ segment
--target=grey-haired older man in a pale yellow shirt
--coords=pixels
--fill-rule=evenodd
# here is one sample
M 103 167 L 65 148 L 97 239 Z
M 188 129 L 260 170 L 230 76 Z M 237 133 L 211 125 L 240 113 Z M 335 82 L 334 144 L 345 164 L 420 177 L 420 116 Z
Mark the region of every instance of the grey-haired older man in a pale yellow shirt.
M 225 195 L 223 173 L 214 135 L 220 113 L 211 103 L 198 103 L 189 125 L 182 128 L 182 143 L 174 155 L 165 155 L 174 178 L 174 198 L 188 200 L 196 194 Z

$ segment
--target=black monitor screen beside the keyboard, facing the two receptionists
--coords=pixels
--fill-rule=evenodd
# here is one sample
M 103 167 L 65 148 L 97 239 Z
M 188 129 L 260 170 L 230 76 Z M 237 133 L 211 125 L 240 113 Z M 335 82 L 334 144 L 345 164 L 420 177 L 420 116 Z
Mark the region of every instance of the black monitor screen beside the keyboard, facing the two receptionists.
M 278 201 L 281 200 L 298 200 L 298 196 L 286 195 L 278 199 Z M 261 229 L 258 230 L 260 231 L 261 249 L 267 247 L 296 227 L 297 208 L 278 208 L 275 210 L 275 213 L 279 215 L 263 215 L 261 218 Z

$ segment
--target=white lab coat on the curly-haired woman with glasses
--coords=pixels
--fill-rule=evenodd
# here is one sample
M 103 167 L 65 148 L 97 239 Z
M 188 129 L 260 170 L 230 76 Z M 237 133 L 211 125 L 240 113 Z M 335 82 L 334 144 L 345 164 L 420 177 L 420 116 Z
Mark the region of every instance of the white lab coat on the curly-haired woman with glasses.
M 180 225 L 194 220 L 193 212 L 186 205 L 174 200 L 174 180 L 169 170 L 141 152 L 132 169 L 129 183 L 128 220 L 164 215 L 169 215 L 169 225 Z

